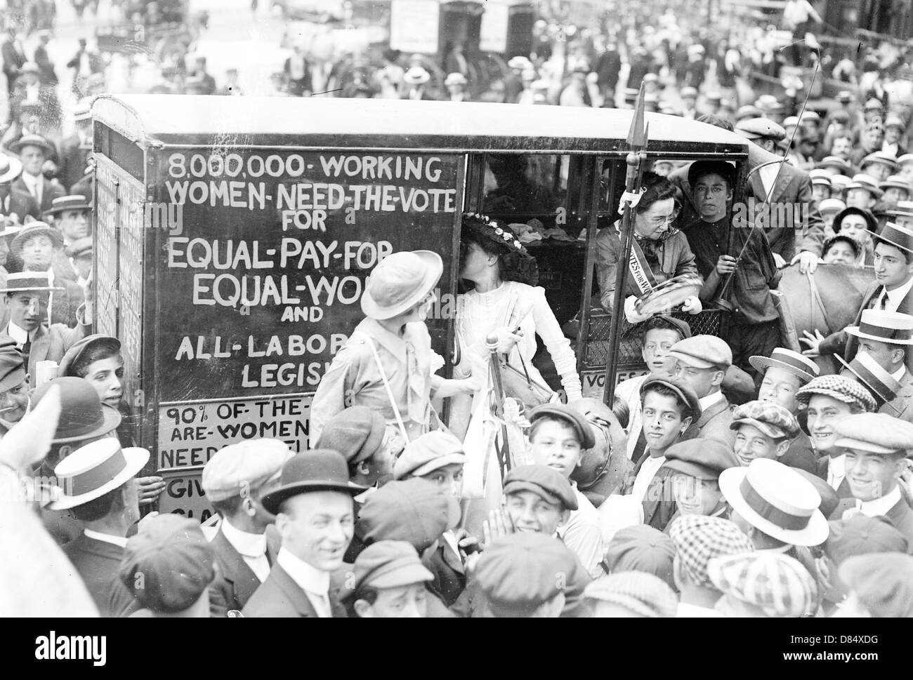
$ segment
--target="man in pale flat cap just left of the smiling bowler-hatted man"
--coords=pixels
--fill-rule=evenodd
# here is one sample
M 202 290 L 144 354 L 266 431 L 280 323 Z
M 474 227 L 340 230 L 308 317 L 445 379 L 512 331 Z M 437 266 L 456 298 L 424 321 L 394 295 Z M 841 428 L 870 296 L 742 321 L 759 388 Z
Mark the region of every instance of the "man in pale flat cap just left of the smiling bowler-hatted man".
M 279 483 L 292 456 L 278 439 L 252 439 L 228 445 L 203 468 L 203 491 L 222 518 L 212 539 L 219 575 L 209 588 L 214 617 L 240 612 L 267 580 L 279 549 L 272 527 L 276 517 L 261 498 Z

